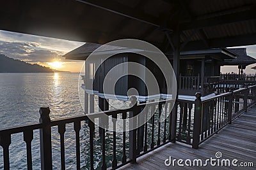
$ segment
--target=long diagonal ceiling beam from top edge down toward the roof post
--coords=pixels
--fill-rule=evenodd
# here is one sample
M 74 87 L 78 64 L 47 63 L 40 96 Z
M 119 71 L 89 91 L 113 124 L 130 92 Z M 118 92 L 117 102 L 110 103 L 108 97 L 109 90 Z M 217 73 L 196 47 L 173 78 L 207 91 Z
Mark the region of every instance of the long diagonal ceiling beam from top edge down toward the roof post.
M 162 26 L 162 22 L 161 20 L 159 20 L 159 18 L 143 13 L 141 10 L 136 10 L 129 6 L 125 6 L 124 4 L 120 4 L 117 1 L 112 1 L 112 0 L 108 0 L 108 1 L 76 0 L 76 1 L 79 1 L 84 4 L 88 4 L 90 6 L 94 6 L 96 8 L 100 8 L 102 10 L 116 13 L 117 15 L 122 15 L 123 17 L 131 18 L 134 20 L 138 20 L 140 22 L 154 25 L 156 27 Z M 166 29 L 170 29 L 170 28 L 166 28 Z M 170 31 L 172 31 L 172 29 L 170 29 Z

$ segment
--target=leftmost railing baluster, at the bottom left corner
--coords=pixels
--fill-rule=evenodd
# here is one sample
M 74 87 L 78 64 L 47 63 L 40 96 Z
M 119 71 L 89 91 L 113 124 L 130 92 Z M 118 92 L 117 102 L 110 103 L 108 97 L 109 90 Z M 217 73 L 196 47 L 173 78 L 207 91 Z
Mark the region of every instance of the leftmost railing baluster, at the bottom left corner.
M 12 143 L 11 134 L 0 134 L 0 145 L 3 147 L 4 170 L 10 169 L 9 146 Z

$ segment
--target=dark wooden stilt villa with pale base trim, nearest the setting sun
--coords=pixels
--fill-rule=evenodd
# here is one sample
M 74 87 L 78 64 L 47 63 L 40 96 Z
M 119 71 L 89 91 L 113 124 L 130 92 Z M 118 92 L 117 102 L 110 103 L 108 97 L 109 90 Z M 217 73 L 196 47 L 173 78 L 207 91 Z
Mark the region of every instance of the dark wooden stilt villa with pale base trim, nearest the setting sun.
M 101 45 L 86 43 L 85 45 L 80 46 L 72 52 L 65 54 L 64 57 L 65 59 L 72 60 L 86 60 L 94 50 L 99 48 L 99 46 Z M 161 95 L 162 98 L 166 98 L 166 96 L 164 96 L 164 94 L 166 94 L 166 89 L 164 89 L 164 87 L 166 87 L 166 83 L 164 82 L 163 75 L 161 75 L 161 71 L 158 69 L 156 64 L 154 64 L 154 62 L 150 62 L 147 57 L 144 57 L 143 55 L 140 55 L 138 53 L 132 53 L 138 52 L 139 50 L 140 49 L 130 49 L 120 46 L 107 45 L 104 46 L 103 49 L 100 49 L 99 51 L 93 53 L 93 56 L 90 57 L 90 59 L 86 60 L 86 81 L 84 82 L 86 92 L 88 92 L 88 94 L 98 95 L 99 97 L 107 97 L 108 99 L 117 98 L 119 100 L 127 101 L 129 99 L 129 97 L 127 96 L 127 91 L 131 88 L 134 88 L 137 89 L 139 92 L 139 101 L 153 100 L 154 96 L 159 95 Z M 102 62 L 102 64 L 100 64 L 99 66 L 99 63 L 103 60 L 101 55 L 106 54 L 115 55 L 109 57 L 109 59 Z M 131 73 L 131 70 L 134 69 L 134 67 L 130 66 L 129 62 L 136 62 L 138 64 L 141 64 L 141 66 L 145 66 L 148 69 L 151 69 L 150 71 L 155 74 L 155 77 L 157 78 L 157 82 L 159 84 L 159 91 L 157 93 L 148 92 L 147 88 L 145 87 L 145 83 L 143 82 L 143 80 L 140 80 L 140 78 L 146 78 L 147 76 L 145 68 L 140 69 L 140 73 L 138 73 L 138 76 L 140 76 L 140 78 L 136 78 L 135 76 L 128 76 L 128 74 Z M 118 66 L 118 64 L 122 63 L 126 64 L 118 67 L 118 71 L 111 73 L 111 77 L 116 77 L 118 74 L 120 74 L 119 72 L 122 72 L 122 74 L 124 74 L 125 76 L 122 76 L 116 82 L 115 91 L 112 92 L 111 89 L 105 89 L 105 91 L 103 92 L 103 81 L 105 81 L 105 83 L 110 83 L 109 81 L 113 81 L 113 79 L 111 78 L 105 78 L 106 75 L 111 69 L 113 69 L 113 67 Z M 172 75 L 170 74 L 170 76 Z M 112 85 L 110 88 L 112 88 Z

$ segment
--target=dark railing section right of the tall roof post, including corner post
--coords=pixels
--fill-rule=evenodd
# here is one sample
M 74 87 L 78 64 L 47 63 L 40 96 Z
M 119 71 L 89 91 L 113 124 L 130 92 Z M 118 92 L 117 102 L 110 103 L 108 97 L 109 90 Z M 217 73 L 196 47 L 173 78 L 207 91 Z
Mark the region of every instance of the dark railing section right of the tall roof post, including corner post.
M 177 141 L 193 148 L 256 104 L 256 85 L 204 100 L 201 97 L 198 92 L 195 101 L 177 101 Z

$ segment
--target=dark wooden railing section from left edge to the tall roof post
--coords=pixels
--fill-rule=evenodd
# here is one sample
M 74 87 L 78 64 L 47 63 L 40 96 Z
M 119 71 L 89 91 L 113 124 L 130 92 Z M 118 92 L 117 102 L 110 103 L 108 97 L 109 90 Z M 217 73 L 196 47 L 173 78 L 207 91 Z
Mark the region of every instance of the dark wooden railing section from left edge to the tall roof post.
M 4 169 L 10 169 L 9 160 L 9 146 L 11 144 L 11 135 L 17 133 L 23 133 L 24 141 L 26 142 L 27 151 L 27 167 L 32 169 L 32 152 L 31 142 L 33 140 L 34 130 L 40 129 L 40 154 L 41 154 L 41 169 L 52 169 L 52 127 L 58 127 L 58 133 L 60 134 L 60 160 L 61 169 L 65 169 L 65 131 L 67 124 L 74 125 L 74 138 L 76 139 L 76 167 L 80 169 L 80 140 L 79 132 L 81 131 L 81 122 L 88 122 L 90 128 L 90 169 L 94 169 L 94 142 L 95 142 L 95 124 L 93 119 L 99 119 L 102 114 L 106 114 L 109 117 L 117 118 L 122 117 L 123 128 L 122 132 L 122 150 L 116 149 L 116 121 L 112 122 L 113 125 L 113 143 L 112 143 L 112 157 L 111 168 L 116 169 L 117 167 L 123 166 L 129 162 L 136 162 L 136 158 L 147 152 L 150 152 L 171 140 L 171 131 L 175 131 L 175 127 L 171 125 L 169 119 L 165 119 L 163 122 L 159 121 L 162 114 L 166 115 L 170 113 L 170 107 L 174 100 L 152 102 L 147 104 L 134 104 L 131 108 L 125 110 L 109 110 L 104 113 L 90 113 L 88 115 L 67 117 L 51 120 L 49 117 L 49 108 L 40 108 L 40 122 L 38 124 L 25 125 L 20 127 L 13 127 L 10 129 L 0 129 L 0 145 L 3 147 L 3 158 L 4 158 Z M 168 109 L 169 108 L 169 109 Z M 126 132 L 127 118 L 134 117 L 138 113 L 144 110 L 143 117 L 147 120 L 147 117 L 151 117 L 142 127 Z M 156 112 L 155 112 L 156 110 Z M 152 115 L 153 114 L 153 115 Z M 90 118 L 89 118 L 90 117 Z M 141 120 L 136 120 L 141 121 Z M 144 121 L 144 120 L 143 120 Z M 136 124 L 136 122 L 133 122 Z M 101 169 L 109 168 L 106 160 L 106 130 L 100 127 L 100 140 L 101 140 Z M 175 138 L 175 136 L 173 137 Z M 127 152 L 127 145 L 129 144 L 129 151 Z M 120 144 L 119 144 L 120 145 Z M 38 146 L 39 147 L 39 146 Z M 12 152 L 12 151 L 11 151 Z M 116 153 L 122 152 L 122 161 L 118 162 Z

